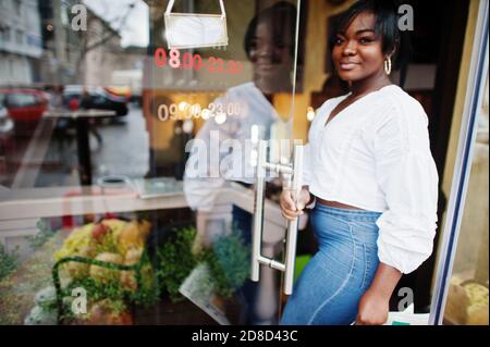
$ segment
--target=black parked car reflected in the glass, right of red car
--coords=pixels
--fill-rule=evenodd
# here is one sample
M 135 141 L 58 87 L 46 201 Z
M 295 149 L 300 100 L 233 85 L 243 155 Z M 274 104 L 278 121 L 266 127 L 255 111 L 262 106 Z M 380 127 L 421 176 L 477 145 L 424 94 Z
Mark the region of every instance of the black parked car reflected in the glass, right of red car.
M 84 92 L 83 86 L 66 86 L 63 92 L 63 102 L 68 108 L 79 106 Z M 118 115 L 127 114 L 127 99 L 108 92 L 103 88 L 87 88 L 88 98 L 84 100 L 87 109 L 111 110 Z

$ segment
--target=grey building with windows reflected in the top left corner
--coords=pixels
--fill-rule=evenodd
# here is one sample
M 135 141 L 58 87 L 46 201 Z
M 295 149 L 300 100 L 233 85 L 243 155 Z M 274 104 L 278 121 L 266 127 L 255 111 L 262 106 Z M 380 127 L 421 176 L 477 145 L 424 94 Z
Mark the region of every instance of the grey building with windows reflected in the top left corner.
M 37 63 L 42 52 L 37 1 L 1 0 L 0 13 L 0 80 L 37 82 Z

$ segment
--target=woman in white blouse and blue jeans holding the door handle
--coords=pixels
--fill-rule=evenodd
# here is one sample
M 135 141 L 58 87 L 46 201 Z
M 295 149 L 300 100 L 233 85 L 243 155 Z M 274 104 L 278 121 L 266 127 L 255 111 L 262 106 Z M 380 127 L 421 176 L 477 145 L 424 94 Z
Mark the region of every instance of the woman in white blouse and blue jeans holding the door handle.
M 382 324 L 402 274 L 432 251 L 438 174 L 427 115 L 389 78 L 403 50 L 396 13 L 389 1 L 362 0 L 334 32 L 332 60 L 351 91 L 317 112 L 296 203 L 281 195 L 290 220 L 316 202 L 319 244 L 282 324 Z

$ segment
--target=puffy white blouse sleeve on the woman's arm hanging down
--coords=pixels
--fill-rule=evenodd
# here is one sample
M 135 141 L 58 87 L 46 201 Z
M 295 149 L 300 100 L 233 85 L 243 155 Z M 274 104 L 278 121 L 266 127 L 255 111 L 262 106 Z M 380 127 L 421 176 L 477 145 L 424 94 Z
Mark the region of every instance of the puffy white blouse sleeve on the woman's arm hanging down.
M 378 256 L 402 273 L 432 252 L 437 228 L 438 172 L 421 107 L 392 108 L 373 139 L 376 175 L 388 209 L 377 221 Z

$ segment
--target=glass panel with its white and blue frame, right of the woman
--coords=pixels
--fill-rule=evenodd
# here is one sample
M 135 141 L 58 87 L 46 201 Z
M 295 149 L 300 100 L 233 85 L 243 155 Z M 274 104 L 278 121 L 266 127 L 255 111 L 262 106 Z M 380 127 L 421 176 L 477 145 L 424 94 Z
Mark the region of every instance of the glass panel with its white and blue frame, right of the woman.
M 480 2 L 432 324 L 488 325 L 488 1 Z

